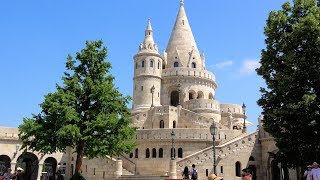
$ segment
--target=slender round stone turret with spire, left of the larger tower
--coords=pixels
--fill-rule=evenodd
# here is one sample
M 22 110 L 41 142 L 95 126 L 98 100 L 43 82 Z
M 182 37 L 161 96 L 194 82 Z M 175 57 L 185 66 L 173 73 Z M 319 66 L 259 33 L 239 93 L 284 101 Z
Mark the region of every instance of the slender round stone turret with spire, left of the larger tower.
M 153 40 L 150 19 L 145 30 L 144 41 L 134 56 L 132 114 L 160 105 L 161 73 L 163 57 Z

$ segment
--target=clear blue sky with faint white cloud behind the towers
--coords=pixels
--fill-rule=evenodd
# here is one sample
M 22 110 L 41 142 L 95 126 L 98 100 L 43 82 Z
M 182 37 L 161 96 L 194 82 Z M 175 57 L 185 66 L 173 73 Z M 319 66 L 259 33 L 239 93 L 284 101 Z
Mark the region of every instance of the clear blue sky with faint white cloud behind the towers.
M 185 0 L 185 9 L 207 69 L 216 75 L 220 103 L 247 105 L 255 126 L 256 101 L 264 81 L 254 68 L 264 48 L 268 13 L 284 0 Z M 116 85 L 132 95 L 133 55 L 151 18 L 154 39 L 163 52 L 179 9 L 179 0 L 77 0 L 0 2 L 0 126 L 17 127 L 39 113 L 44 95 L 61 83 L 68 54 L 86 40 L 108 47 Z

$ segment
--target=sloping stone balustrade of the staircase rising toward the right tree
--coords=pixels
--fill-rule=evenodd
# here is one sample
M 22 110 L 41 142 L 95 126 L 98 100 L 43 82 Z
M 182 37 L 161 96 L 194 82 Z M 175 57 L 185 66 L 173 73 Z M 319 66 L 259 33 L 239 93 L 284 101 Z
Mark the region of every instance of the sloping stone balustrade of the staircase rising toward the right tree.
M 245 147 L 248 147 L 249 145 L 254 144 L 256 141 L 257 135 L 258 135 L 258 132 L 254 132 L 245 136 L 240 136 L 231 141 L 228 141 L 216 146 L 216 152 L 217 152 L 216 156 L 224 157 L 231 153 L 236 153 L 238 150 L 241 150 Z M 178 160 L 177 170 L 183 171 L 183 168 L 186 165 L 191 166 L 191 164 L 202 164 L 205 161 L 208 161 L 208 160 L 211 161 L 212 151 L 213 151 L 213 147 L 210 146 L 194 154 L 191 154 L 183 159 Z

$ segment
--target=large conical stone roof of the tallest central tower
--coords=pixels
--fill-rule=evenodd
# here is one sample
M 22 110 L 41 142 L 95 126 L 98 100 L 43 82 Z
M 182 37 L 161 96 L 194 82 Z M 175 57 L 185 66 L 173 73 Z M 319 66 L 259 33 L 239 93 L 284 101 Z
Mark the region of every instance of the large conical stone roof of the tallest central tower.
M 198 47 L 196 41 L 194 40 L 191 27 L 184 9 L 184 1 L 180 0 L 180 9 L 176 17 L 176 22 L 174 24 L 173 30 L 171 32 L 170 40 L 166 49 L 168 54 L 168 61 L 172 59 L 177 59 L 172 57 L 175 51 L 179 51 L 182 57 L 182 66 L 188 66 L 190 61 L 189 54 L 193 52 L 193 56 L 200 58 Z

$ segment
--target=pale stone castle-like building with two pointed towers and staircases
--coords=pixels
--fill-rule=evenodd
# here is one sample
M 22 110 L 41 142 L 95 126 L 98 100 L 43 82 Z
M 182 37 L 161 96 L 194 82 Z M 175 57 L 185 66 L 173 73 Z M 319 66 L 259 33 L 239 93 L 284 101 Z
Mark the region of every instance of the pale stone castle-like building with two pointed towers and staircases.
M 206 69 L 183 1 L 164 54 L 159 54 L 153 33 L 149 20 L 145 39 L 134 55 L 132 125 L 139 128 L 137 147 L 121 160 L 85 159 L 83 175 L 92 180 L 181 178 L 184 167 L 195 164 L 199 179 L 204 180 L 213 169 L 209 127 L 214 123 L 218 128 L 214 143 L 219 176 L 241 179 L 241 170 L 250 167 L 255 179 L 279 179 L 278 164 L 270 156 L 277 148 L 263 130 L 262 118 L 258 130 L 248 133 L 244 124 L 252 124 L 245 121 L 242 105 L 220 104 L 215 99 L 215 75 Z M 71 149 L 52 155 L 21 151 L 17 149 L 18 130 L 0 130 L 0 166 L 21 166 L 31 180 L 54 175 L 58 168 L 66 178 L 73 173 L 75 154 Z M 289 174 L 293 177 L 295 173 Z

